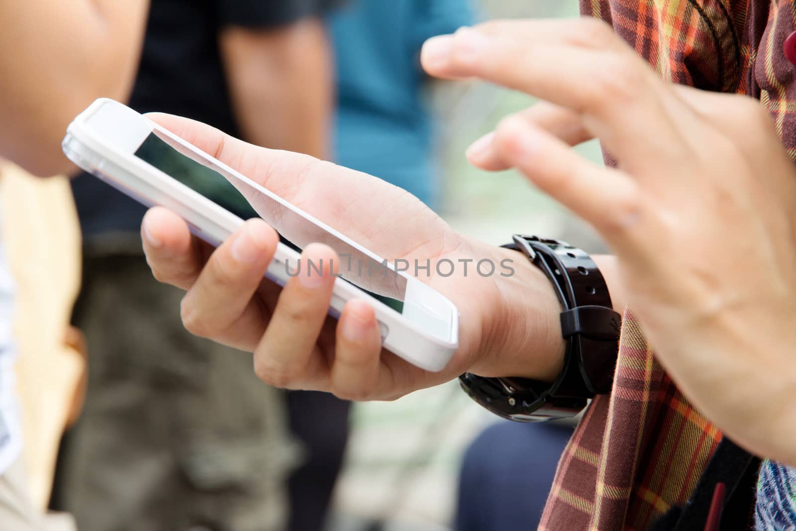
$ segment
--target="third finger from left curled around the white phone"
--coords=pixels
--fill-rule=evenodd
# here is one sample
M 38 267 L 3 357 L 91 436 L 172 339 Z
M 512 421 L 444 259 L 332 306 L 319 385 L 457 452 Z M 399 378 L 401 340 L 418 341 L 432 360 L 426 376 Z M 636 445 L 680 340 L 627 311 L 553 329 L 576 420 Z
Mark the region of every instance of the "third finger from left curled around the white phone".
M 324 244 L 304 248 L 254 353 L 255 373 L 269 385 L 326 389 L 329 364 L 318 347 L 338 271 L 338 256 Z

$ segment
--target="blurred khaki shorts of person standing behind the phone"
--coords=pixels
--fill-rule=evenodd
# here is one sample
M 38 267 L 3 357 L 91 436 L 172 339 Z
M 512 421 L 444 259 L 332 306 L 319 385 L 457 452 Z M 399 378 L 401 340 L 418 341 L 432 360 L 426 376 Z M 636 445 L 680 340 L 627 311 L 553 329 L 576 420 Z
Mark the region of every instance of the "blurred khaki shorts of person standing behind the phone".
M 88 393 L 53 506 L 80 531 L 282 531 L 301 457 L 285 392 L 259 381 L 251 353 L 185 330 L 184 293 L 152 277 L 135 238 L 131 254 L 85 255 L 74 318 Z

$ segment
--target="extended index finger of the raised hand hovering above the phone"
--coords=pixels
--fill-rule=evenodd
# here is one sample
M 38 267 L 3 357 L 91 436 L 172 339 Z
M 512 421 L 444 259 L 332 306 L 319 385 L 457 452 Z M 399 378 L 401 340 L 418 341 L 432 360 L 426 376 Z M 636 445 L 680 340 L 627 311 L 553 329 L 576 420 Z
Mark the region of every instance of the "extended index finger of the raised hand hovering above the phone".
M 687 107 L 609 26 L 568 22 L 603 43 L 595 47 L 573 44 L 572 29 L 549 31 L 560 21 L 526 24 L 538 31 L 500 33 L 505 26 L 493 25 L 434 37 L 423 46 L 423 66 L 435 76 L 477 77 L 576 111 L 623 164 L 685 155 L 684 130 L 693 127 Z

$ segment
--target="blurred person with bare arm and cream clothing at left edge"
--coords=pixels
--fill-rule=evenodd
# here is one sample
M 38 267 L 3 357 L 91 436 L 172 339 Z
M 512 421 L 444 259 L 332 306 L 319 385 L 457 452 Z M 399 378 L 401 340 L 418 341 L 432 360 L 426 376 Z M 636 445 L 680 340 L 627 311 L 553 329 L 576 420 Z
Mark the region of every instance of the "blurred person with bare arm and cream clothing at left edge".
M 58 432 L 72 414 L 69 405 L 80 371 L 70 360 L 70 351 L 79 342 L 67 339 L 66 322 L 76 289 L 77 259 L 69 255 L 69 243 L 74 242 L 68 210 L 61 209 L 64 196 L 59 183 L 38 188 L 25 174 L 68 171 L 72 166 L 60 150 L 60 141 L 72 118 L 99 96 L 127 99 L 147 6 L 146 0 L 0 3 L 0 45 L 6 50 L 0 53 L 0 209 L 6 225 L 0 236 L 0 529 L 72 528 L 68 518 L 45 516 L 43 500 L 49 489 L 46 469 L 55 459 Z M 23 209 L 23 204 L 32 208 Z M 11 212 L 14 207 L 18 209 Z M 62 221 L 60 227 L 48 225 Z M 60 231 L 64 240 L 48 245 L 42 238 L 53 237 L 50 228 Z M 6 264 L 6 243 L 14 252 L 14 272 L 25 272 L 18 294 Z M 52 261 L 54 251 L 64 255 Z M 55 276 L 45 278 L 50 273 Z M 25 297 L 17 301 L 20 306 L 15 306 L 17 295 Z M 35 315 L 37 309 L 44 311 Z M 23 313 L 27 318 L 21 323 Z M 18 347 L 12 339 L 12 318 L 17 326 L 24 325 L 14 334 L 29 332 L 14 337 L 20 341 Z M 17 351 L 22 357 L 15 385 Z M 25 470 L 23 452 L 28 463 L 39 465 L 36 470 Z

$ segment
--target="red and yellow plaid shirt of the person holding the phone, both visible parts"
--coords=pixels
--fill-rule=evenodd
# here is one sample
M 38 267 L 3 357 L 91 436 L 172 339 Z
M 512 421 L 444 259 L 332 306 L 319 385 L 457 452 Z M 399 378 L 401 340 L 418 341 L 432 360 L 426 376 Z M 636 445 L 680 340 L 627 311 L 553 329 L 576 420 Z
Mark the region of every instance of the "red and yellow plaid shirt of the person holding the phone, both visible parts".
M 665 80 L 753 96 L 796 159 L 796 66 L 783 44 L 792 0 L 580 0 Z M 761 176 L 764 178 L 765 176 Z M 564 451 L 540 529 L 642 530 L 688 501 L 722 435 L 654 360 L 629 310 L 611 396 Z

